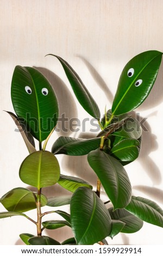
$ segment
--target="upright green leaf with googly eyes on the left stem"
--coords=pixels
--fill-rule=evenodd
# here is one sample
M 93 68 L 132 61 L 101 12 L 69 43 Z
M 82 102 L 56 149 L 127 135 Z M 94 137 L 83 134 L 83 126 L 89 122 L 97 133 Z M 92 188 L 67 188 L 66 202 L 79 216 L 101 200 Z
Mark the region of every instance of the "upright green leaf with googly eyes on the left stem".
M 16 66 L 12 76 L 11 99 L 19 118 L 40 142 L 57 124 L 58 102 L 48 80 L 36 69 Z

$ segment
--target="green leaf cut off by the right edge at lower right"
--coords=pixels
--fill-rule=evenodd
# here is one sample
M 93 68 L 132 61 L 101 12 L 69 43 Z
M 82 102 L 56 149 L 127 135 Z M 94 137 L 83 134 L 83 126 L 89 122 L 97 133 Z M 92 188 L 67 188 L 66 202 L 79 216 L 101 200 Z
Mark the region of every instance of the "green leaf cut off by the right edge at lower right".
M 132 197 L 126 209 L 142 221 L 163 228 L 163 210 L 152 200 L 143 197 Z

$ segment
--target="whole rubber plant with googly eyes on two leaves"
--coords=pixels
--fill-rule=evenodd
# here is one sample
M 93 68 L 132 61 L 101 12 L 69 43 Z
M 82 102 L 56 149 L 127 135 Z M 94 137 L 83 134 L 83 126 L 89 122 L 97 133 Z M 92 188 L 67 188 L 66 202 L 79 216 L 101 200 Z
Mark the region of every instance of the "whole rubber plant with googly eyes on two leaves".
M 53 54 L 50 54 L 53 55 Z M 53 55 L 54 56 L 54 55 Z M 99 108 L 82 80 L 62 58 L 55 56 L 63 66 L 72 89 L 87 113 L 97 119 L 101 132 L 96 138 L 77 139 L 59 137 L 52 152 L 46 145 L 55 130 L 58 118 L 57 97 L 47 79 L 36 69 L 16 66 L 12 77 L 11 99 L 14 119 L 29 155 L 22 162 L 20 179 L 37 189 L 14 188 L 2 196 L 1 203 L 7 210 L 0 218 L 24 216 L 36 225 L 37 234 L 23 233 L 26 245 L 92 245 L 107 244 L 118 233 L 134 233 L 142 228 L 143 221 L 163 227 L 163 211 L 152 200 L 132 196 L 131 184 L 124 166 L 133 162 L 141 148 L 141 126 L 130 111 L 146 99 L 159 71 L 162 53 L 147 51 L 131 59 L 124 67 L 111 109 L 101 117 Z M 34 138 L 39 142 L 36 151 Z M 42 142 L 43 143 L 42 146 Z M 60 174 L 55 155 L 87 155 L 90 167 L 97 175 L 97 188 L 83 179 Z M 42 188 L 59 184 L 72 192 L 72 196 L 47 198 Z M 101 184 L 108 200 L 101 199 Z M 70 204 L 70 214 L 55 210 Z M 48 205 L 55 208 L 42 212 Z M 36 221 L 24 212 L 36 209 Z M 51 214 L 51 221 L 43 217 Z M 54 214 L 64 220 L 54 220 Z M 42 235 L 44 229 L 57 229 L 67 225 L 74 237 L 62 243 Z

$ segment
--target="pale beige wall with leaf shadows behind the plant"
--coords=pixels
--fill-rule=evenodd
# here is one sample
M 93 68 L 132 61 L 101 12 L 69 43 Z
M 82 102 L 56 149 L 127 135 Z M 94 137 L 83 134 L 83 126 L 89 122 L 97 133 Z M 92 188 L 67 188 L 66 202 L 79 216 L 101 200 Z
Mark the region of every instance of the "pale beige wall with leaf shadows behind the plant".
M 123 66 L 136 54 L 146 50 L 163 51 L 163 1 L 161 0 L 1 0 L 0 1 L 0 72 L 1 72 L 1 179 L 0 195 L 14 187 L 27 187 L 18 178 L 18 169 L 27 156 L 15 125 L 3 112 L 13 111 L 10 99 L 12 72 L 16 65 L 36 66 L 52 82 L 60 100 L 61 112 L 83 120 L 89 117 L 74 99 L 72 89 L 57 59 L 66 59 L 82 77 L 97 100 L 101 112 L 111 106 Z M 43 68 L 43 69 L 42 69 Z M 135 196 L 155 200 L 163 208 L 163 69 L 161 66 L 149 99 L 137 112 L 148 117 L 148 132 L 143 134 L 141 156 L 126 167 Z M 77 103 L 77 109 L 75 107 Z M 90 126 L 87 125 L 87 131 Z M 81 132 L 81 131 L 80 131 Z M 80 132 L 68 135 L 80 136 Z M 49 142 L 60 135 L 54 134 Z M 96 184 L 86 157 L 58 157 L 62 173 L 75 174 Z M 50 196 L 64 193 L 59 187 L 45 190 Z M 68 208 L 61 207 L 61 210 Z M 2 205 L 0 210 L 4 211 Z M 35 218 L 35 212 L 29 216 Z M 20 245 L 20 233 L 34 233 L 35 227 L 23 217 L 0 220 L 1 245 Z M 68 228 L 48 231 L 62 241 Z M 117 235 L 110 244 L 162 244 L 163 229 L 145 223 L 135 234 Z

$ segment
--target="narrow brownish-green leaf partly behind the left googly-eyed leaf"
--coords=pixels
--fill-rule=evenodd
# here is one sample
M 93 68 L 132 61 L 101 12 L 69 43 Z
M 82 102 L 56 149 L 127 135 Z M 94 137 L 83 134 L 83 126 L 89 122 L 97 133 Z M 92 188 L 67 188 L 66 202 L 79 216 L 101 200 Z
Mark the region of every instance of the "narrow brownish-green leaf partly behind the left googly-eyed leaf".
M 26 126 L 24 125 L 23 121 L 16 117 L 16 115 L 12 112 L 5 111 L 7 112 L 10 117 L 14 120 L 15 124 L 18 127 L 18 130 L 20 131 L 24 142 L 26 143 L 27 149 L 29 151 L 29 154 L 33 153 L 36 151 L 35 149 L 35 142 L 33 136 L 30 134 L 30 132 L 27 131 Z

